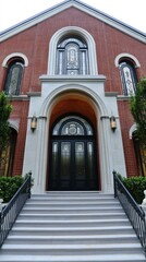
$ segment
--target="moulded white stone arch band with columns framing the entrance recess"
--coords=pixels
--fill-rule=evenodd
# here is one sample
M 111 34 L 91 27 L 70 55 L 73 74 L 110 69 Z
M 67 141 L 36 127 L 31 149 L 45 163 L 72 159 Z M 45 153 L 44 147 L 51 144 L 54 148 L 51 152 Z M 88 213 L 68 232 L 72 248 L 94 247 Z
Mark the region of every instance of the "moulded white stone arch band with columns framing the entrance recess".
M 100 151 L 100 172 L 101 175 L 101 190 L 104 192 L 112 192 L 112 157 L 111 157 L 111 144 L 110 144 L 110 134 L 109 133 L 109 117 L 106 105 L 101 100 L 101 98 L 94 92 L 89 91 L 87 87 L 82 85 L 63 85 L 56 91 L 53 91 L 42 103 L 40 114 L 39 114 L 39 130 L 37 135 L 37 156 L 35 163 L 35 187 L 34 192 L 45 192 L 46 188 L 46 168 L 47 168 L 47 146 L 48 145 L 48 133 L 49 133 L 49 121 L 51 117 L 51 111 L 53 105 L 58 103 L 61 95 L 70 94 L 71 92 L 78 92 L 78 95 L 85 95 L 90 99 L 93 104 L 93 109 L 95 110 L 97 119 L 97 129 L 101 130 L 99 138 L 99 147 L 102 148 Z M 77 96 L 78 96 L 77 95 Z M 102 116 L 106 117 L 106 121 L 101 121 L 100 118 Z M 107 143 L 108 140 L 108 143 Z

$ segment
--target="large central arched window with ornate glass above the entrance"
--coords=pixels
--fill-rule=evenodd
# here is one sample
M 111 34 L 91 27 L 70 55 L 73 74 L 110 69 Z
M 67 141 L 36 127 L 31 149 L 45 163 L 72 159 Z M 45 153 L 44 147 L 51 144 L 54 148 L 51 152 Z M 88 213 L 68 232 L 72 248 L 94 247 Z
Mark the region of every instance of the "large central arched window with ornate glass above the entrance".
M 69 36 L 58 43 L 57 74 L 88 74 L 88 50 L 83 39 Z

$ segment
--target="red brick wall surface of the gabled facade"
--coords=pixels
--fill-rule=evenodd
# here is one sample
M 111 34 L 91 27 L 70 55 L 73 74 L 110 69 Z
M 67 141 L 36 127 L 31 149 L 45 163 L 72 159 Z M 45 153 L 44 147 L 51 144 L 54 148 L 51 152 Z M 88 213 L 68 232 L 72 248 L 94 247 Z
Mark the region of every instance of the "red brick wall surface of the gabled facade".
M 141 63 L 138 76 L 146 75 L 145 44 L 71 8 L 0 44 L 0 64 L 12 52 L 23 52 L 28 58 L 28 67 L 24 69 L 21 94 L 40 91 L 39 76 L 47 73 L 49 41 L 57 31 L 65 26 L 78 26 L 93 35 L 96 43 L 98 72 L 107 78 L 106 92 L 122 94 L 119 69 L 114 66 L 114 59 L 119 53 L 129 52 L 135 56 Z M 0 90 L 3 88 L 4 76 L 5 69 L 0 67 Z M 13 105 L 12 118 L 20 119 L 14 164 L 14 174 L 16 175 L 22 172 L 28 102 L 13 102 Z M 129 138 L 129 130 L 133 123 L 129 112 L 129 103 L 119 102 L 118 105 L 127 174 L 130 176 L 137 175 L 133 144 Z

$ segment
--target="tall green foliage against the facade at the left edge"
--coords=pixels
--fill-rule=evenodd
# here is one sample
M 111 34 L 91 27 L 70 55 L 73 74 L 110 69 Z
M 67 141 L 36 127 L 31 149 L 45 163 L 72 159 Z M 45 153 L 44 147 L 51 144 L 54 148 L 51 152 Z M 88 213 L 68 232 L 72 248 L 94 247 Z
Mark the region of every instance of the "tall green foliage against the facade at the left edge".
M 4 92 L 0 93 L 0 163 L 2 160 L 2 153 L 7 150 L 10 139 L 9 117 L 12 111 L 12 105 Z

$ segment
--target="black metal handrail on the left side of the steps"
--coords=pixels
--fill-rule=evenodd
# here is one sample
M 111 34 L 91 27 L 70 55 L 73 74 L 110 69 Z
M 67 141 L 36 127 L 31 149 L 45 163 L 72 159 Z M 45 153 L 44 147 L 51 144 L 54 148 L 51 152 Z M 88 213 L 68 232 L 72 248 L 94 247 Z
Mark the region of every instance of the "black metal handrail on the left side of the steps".
M 31 198 L 32 174 L 26 176 L 25 181 L 13 195 L 11 201 L 0 212 L 0 247 L 8 237 L 16 217 L 23 209 L 27 199 Z

